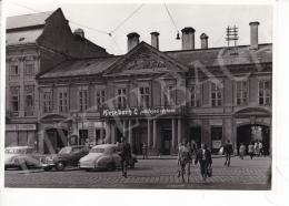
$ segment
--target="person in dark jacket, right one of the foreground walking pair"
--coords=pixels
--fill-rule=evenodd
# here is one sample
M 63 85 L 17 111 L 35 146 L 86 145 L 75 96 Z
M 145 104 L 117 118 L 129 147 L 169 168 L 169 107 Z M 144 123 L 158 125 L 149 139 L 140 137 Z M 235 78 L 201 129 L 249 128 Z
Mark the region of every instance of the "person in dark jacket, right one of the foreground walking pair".
M 208 167 L 212 164 L 211 152 L 207 148 L 207 144 L 201 144 L 201 148 L 198 150 L 195 158 L 195 165 L 197 165 L 198 162 L 200 164 L 202 181 L 206 182 L 208 176 Z

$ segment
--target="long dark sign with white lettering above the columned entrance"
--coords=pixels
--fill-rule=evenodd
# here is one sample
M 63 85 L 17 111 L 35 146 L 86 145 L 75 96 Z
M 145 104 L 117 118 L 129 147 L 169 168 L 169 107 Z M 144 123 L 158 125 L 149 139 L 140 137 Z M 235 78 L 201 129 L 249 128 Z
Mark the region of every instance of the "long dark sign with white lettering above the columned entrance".
M 177 114 L 177 109 L 157 107 L 157 109 L 123 109 L 123 110 L 102 110 L 102 116 L 142 116 L 142 115 L 170 115 Z

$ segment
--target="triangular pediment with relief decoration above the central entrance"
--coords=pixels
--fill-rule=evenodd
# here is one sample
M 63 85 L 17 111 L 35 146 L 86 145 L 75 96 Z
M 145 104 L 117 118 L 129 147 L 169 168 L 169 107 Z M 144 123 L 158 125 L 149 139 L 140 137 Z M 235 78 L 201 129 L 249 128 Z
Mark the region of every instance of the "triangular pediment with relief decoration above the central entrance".
M 146 42 L 139 43 L 122 55 L 106 72 L 106 75 L 187 72 L 189 68 L 160 52 Z

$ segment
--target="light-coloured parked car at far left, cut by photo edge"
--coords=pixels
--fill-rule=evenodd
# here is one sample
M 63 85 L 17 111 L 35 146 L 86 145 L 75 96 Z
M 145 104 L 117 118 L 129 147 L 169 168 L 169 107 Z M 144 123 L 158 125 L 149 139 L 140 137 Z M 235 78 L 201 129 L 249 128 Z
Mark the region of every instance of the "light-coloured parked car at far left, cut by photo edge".
M 4 169 L 40 167 L 40 158 L 41 154 L 34 152 L 32 146 L 9 146 L 4 151 Z

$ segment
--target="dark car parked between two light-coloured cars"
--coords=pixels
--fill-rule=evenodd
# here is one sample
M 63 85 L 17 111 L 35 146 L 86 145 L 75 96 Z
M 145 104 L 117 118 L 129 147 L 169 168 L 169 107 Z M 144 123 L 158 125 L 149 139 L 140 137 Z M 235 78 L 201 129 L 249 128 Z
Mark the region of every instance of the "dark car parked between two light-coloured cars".
M 41 158 L 41 167 L 44 171 L 56 168 L 63 171 L 66 166 L 78 166 L 78 161 L 89 153 L 89 147 L 84 145 L 64 146 L 58 154 Z

